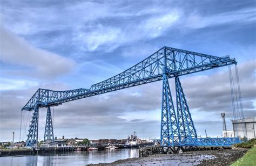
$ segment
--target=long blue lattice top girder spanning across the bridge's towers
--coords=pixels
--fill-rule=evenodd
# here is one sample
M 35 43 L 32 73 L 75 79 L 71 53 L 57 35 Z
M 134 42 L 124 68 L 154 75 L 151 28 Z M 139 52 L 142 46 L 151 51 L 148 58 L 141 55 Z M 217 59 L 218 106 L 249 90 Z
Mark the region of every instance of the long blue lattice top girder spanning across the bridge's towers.
M 163 47 L 142 62 L 105 81 L 93 84 L 90 89 L 53 91 L 38 89 L 22 110 L 32 111 L 35 106 L 48 107 L 72 100 L 95 96 L 131 86 L 142 85 L 168 78 L 237 63 L 229 56 L 218 57 L 187 50 Z M 165 70 L 165 71 L 164 71 Z

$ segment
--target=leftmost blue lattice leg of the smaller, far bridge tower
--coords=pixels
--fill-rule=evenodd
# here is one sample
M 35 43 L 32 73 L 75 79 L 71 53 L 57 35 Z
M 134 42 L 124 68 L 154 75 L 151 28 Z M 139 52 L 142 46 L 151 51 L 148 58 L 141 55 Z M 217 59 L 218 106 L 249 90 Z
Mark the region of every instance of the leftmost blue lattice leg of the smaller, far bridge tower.
M 26 146 L 32 147 L 37 146 L 37 139 L 38 139 L 38 112 L 39 109 L 36 107 L 35 111 L 33 112 L 31 124 L 29 126 L 29 134 L 28 139 L 26 140 Z

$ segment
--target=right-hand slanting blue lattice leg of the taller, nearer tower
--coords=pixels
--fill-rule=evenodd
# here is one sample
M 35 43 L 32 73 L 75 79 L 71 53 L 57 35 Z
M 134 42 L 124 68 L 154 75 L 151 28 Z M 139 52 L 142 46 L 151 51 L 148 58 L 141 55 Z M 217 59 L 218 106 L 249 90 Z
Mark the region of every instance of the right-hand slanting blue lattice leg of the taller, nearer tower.
M 187 100 L 181 87 L 179 77 L 175 77 L 176 100 L 177 100 L 177 117 L 179 125 L 180 138 L 197 138 L 197 131 L 194 128 L 194 122 L 191 118 Z M 182 140 L 181 140 L 182 141 Z

